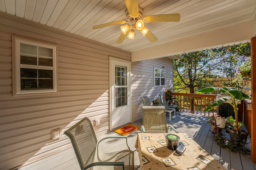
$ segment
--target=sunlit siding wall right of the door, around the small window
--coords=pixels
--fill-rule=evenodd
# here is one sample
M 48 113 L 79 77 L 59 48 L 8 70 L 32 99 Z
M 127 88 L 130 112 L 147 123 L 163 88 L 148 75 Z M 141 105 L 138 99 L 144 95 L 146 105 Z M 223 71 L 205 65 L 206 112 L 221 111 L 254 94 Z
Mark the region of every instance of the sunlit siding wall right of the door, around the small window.
M 165 86 L 154 88 L 154 67 L 165 69 Z M 173 85 L 173 61 L 166 58 L 152 59 L 132 63 L 132 122 L 142 119 L 142 100 L 140 97 L 148 96 L 150 102 L 159 98 Z

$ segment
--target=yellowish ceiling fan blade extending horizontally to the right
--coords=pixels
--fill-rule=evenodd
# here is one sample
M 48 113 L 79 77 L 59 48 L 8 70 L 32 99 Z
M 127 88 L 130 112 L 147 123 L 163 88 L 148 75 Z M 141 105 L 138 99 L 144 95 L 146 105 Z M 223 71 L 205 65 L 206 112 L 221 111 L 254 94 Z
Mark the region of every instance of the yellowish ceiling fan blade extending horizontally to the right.
M 162 14 L 154 16 L 145 16 L 144 22 L 178 22 L 180 21 L 180 14 Z

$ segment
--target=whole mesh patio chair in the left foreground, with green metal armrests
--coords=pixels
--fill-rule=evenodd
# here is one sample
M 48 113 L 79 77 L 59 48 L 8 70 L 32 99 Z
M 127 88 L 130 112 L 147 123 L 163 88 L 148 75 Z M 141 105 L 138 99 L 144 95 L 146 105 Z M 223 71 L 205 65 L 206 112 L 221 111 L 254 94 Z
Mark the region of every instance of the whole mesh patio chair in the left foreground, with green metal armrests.
M 70 127 L 64 134 L 70 138 L 82 170 L 134 170 L 134 152 L 130 150 L 126 136 L 105 137 L 98 142 L 92 123 L 87 117 Z M 128 149 L 102 152 L 99 143 L 109 138 L 126 139 Z

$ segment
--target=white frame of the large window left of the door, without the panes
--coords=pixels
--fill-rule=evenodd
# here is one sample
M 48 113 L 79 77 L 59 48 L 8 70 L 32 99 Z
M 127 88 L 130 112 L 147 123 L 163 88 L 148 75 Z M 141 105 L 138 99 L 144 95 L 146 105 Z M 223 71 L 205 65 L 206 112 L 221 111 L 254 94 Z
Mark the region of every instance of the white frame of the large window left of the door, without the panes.
M 28 39 L 22 39 L 19 37 L 12 37 L 13 42 L 13 94 L 35 94 L 35 93 L 53 93 L 57 92 L 57 45 L 42 43 L 38 41 L 32 41 Z M 40 65 L 30 65 L 30 64 L 20 64 L 20 43 L 35 45 L 39 47 L 45 47 L 52 49 L 52 66 L 40 66 Z M 33 69 L 43 69 L 52 70 L 53 78 L 53 88 L 52 89 L 40 89 L 40 90 L 21 90 L 20 88 L 20 68 L 33 68 Z

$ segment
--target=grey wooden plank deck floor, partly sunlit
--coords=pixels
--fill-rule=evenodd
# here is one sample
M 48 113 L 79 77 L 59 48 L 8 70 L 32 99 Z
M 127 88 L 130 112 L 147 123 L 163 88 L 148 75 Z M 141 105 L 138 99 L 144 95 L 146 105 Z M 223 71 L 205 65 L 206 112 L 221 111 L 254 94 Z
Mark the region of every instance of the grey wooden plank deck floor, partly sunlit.
M 216 160 L 220 162 L 228 170 L 256 170 L 256 164 L 252 162 L 251 156 L 246 154 L 239 154 L 230 152 L 229 149 L 220 148 L 217 145 L 217 141 L 214 140 L 214 135 L 209 131 L 212 128 L 206 123 L 207 117 L 203 115 L 195 115 L 191 113 L 176 113 L 176 119 L 172 116 L 172 121 L 169 123 L 169 117 L 167 118 L 167 124 L 173 125 L 179 133 L 187 133 L 196 141 L 201 147 L 203 147 L 209 154 L 211 154 Z M 142 120 L 133 122 L 133 124 L 141 126 Z M 140 129 L 139 129 L 140 130 Z M 170 133 L 174 131 L 170 131 Z M 134 151 L 134 164 L 135 169 L 140 170 L 138 152 L 134 148 L 137 134 L 140 131 L 134 131 L 128 135 L 128 144 L 131 150 Z M 118 136 L 115 132 L 109 132 L 101 135 L 98 139 L 102 139 L 106 136 Z M 227 134 L 228 135 L 228 134 Z M 248 138 L 247 143 L 250 142 Z M 101 147 L 104 151 L 116 150 L 122 147 L 122 144 L 116 145 L 118 142 L 108 141 Z M 246 145 L 250 149 L 250 143 Z M 62 152 L 48 156 L 42 160 L 28 164 L 18 170 L 79 170 L 79 164 L 76 160 L 76 155 L 73 148 L 66 149 Z

